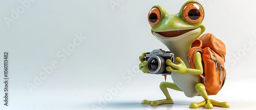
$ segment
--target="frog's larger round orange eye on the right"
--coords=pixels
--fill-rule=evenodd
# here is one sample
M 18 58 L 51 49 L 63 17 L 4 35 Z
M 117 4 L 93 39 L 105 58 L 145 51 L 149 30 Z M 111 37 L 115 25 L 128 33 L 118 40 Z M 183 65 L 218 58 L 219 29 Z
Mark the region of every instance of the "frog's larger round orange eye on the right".
M 188 3 L 183 9 L 183 17 L 188 23 L 197 24 L 203 20 L 204 11 L 198 3 Z

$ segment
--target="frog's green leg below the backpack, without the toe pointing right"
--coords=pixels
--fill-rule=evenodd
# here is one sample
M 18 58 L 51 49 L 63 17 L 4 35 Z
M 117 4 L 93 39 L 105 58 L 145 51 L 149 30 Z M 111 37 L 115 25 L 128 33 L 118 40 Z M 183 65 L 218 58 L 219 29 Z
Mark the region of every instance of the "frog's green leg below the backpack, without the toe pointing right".
M 205 108 L 214 108 L 214 106 L 211 104 L 210 99 L 206 93 L 204 84 L 197 83 L 195 88 L 196 88 L 196 91 L 204 98 L 205 101 L 202 101 L 200 103 L 191 103 L 189 107 L 198 108 L 198 107 L 204 106 Z

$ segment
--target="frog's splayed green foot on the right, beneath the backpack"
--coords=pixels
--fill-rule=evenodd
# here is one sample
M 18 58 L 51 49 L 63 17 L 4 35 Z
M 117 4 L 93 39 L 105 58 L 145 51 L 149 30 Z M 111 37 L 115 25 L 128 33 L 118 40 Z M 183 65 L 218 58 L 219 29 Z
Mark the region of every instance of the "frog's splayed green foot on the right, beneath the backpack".
M 218 102 L 215 100 L 209 100 L 210 103 L 206 103 L 206 101 L 202 101 L 200 103 L 191 103 L 189 105 L 190 108 L 198 108 L 204 106 L 205 108 L 213 108 L 214 106 L 219 106 L 219 107 L 229 107 L 229 104 L 227 102 Z

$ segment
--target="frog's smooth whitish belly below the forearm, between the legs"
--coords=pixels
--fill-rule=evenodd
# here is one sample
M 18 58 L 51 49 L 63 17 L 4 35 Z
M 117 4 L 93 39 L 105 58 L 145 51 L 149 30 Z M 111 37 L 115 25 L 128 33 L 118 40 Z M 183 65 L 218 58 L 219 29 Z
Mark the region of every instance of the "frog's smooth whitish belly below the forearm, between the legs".
M 197 83 L 201 82 L 201 78 L 190 73 L 181 74 L 172 72 L 174 83 L 184 92 L 187 97 L 199 95 L 195 89 Z

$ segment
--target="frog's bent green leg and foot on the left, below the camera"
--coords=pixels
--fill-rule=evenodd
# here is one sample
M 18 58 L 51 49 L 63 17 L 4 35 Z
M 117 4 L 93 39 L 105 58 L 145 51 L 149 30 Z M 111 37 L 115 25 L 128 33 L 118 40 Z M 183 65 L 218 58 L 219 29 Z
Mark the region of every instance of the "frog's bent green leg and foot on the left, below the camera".
M 166 99 L 155 100 L 155 101 L 150 101 L 150 100 L 145 99 L 145 100 L 142 101 L 142 104 L 151 104 L 153 106 L 156 106 L 156 105 L 159 105 L 159 104 L 172 104 L 172 103 L 174 103 L 173 99 L 169 95 L 169 92 L 168 92 L 167 88 L 177 90 L 177 91 L 182 91 L 175 83 L 163 81 L 163 82 L 160 83 L 160 89 L 162 90 Z

